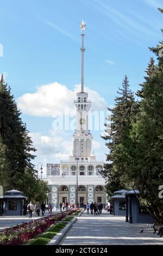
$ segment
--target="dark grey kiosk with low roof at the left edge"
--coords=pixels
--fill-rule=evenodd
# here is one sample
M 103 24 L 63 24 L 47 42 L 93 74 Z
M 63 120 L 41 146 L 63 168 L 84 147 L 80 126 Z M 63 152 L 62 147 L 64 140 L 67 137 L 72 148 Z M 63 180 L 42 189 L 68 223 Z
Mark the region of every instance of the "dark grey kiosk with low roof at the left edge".
M 21 216 L 23 215 L 23 206 L 28 197 L 23 196 L 23 192 L 18 190 L 9 190 L 5 192 L 1 200 L 1 215 Z

